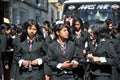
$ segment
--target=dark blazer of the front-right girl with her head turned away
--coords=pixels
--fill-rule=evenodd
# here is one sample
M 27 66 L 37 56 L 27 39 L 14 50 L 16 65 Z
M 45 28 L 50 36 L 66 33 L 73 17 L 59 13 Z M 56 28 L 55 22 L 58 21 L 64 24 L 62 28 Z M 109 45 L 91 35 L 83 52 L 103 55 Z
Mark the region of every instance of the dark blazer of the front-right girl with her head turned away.
M 90 45 L 91 43 L 89 43 Z M 89 46 L 93 56 L 105 57 L 107 62 L 91 63 L 88 72 L 94 76 L 111 76 L 112 66 L 114 66 L 117 54 L 111 40 L 100 41 L 94 49 L 92 44 Z

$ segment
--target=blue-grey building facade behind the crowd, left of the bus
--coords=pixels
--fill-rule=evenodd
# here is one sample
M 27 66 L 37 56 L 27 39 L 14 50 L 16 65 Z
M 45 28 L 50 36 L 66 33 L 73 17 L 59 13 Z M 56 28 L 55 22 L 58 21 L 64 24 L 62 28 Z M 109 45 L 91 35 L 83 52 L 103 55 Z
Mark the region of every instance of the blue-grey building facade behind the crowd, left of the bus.
M 21 24 L 28 19 L 36 19 L 40 24 L 58 19 L 57 7 L 48 0 L 2 0 L 0 11 L 11 24 Z

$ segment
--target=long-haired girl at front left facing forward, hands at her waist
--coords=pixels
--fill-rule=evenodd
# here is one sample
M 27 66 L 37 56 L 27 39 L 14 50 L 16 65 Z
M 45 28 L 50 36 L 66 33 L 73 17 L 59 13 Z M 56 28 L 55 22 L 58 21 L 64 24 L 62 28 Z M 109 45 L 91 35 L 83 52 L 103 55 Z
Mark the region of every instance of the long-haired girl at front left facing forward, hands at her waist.
M 44 80 L 43 53 L 44 43 L 40 37 L 39 25 L 35 20 L 28 20 L 25 32 L 20 37 L 20 45 L 15 52 L 22 80 Z

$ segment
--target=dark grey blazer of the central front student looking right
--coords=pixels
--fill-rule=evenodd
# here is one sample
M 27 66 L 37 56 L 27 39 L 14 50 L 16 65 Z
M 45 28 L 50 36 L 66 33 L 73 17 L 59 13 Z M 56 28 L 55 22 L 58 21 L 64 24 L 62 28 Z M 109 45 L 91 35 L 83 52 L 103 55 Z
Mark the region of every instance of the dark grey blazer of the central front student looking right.
M 52 74 L 53 75 L 63 75 L 64 70 L 58 69 L 57 65 L 59 63 L 63 63 L 65 61 L 80 61 L 83 59 L 82 54 L 80 55 L 79 49 L 75 46 L 75 44 L 71 41 L 66 42 L 66 51 L 65 53 L 62 53 L 60 49 L 60 44 L 58 41 L 54 41 L 53 43 L 50 44 L 48 48 L 48 65 L 52 69 Z M 69 74 L 73 74 L 72 70 L 73 69 L 65 69 L 68 71 Z

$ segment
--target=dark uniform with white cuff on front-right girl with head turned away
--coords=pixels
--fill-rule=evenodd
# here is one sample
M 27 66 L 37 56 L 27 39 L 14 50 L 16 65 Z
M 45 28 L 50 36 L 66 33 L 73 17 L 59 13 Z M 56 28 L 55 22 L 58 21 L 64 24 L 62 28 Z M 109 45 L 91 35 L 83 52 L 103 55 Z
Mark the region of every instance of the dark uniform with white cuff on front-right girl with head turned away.
M 90 63 L 87 68 L 88 80 L 112 80 L 113 68 L 117 54 L 111 40 L 101 39 L 99 43 L 90 43 L 90 52 L 93 56 L 101 57 L 100 62 Z

